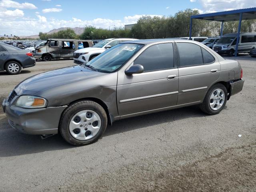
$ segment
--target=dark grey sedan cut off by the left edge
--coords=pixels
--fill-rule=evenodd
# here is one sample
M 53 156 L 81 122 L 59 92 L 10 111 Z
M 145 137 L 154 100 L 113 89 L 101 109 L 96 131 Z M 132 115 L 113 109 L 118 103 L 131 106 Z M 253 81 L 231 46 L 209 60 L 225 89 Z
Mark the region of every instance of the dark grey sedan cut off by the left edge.
M 8 74 L 19 74 L 22 68 L 36 65 L 36 60 L 29 50 L 0 43 L 0 71 L 6 70 Z

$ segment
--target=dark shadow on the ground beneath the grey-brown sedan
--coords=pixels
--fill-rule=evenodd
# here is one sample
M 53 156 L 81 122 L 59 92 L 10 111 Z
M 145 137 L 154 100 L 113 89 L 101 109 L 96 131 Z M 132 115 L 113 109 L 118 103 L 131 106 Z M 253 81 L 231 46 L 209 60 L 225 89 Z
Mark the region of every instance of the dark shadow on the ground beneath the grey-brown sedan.
M 201 112 L 198 106 L 190 106 L 127 118 L 114 122 L 112 126 L 108 126 L 103 138 L 148 126 L 161 126 L 161 124 L 165 122 L 174 122 L 186 118 L 204 116 L 208 115 Z M 76 147 L 65 142 L 60 134 L 51 136 L 44 140 L 42 140 L 38 135 L 22 134 L 9 126 L 7 118 L 0 120 L 0 127 L 0 157 L 19 156 Z

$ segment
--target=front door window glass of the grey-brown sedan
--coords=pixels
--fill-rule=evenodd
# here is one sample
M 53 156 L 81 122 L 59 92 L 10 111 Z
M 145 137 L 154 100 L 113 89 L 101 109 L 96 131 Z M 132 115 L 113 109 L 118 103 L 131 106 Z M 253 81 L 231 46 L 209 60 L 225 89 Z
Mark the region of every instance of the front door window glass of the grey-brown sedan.
M 133 64 L 142 65 L 144 72 L 173 68 L 174 53 L 172 43 L 150 46 L 138 56 Z

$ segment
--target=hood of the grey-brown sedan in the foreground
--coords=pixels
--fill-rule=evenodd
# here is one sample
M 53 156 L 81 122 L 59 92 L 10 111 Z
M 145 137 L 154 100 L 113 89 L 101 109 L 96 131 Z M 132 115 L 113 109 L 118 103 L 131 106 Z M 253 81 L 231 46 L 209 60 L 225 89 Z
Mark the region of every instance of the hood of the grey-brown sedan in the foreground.
M 49 72 L 37 74 L 20 82 L 14 90 L 18 96 L 34 95 L 47 89 L 75 83 L 90 78 L 106 75 L 84 68 L 83 66 L 72 66 Z M 39 95 L 38 95 L 39 96 Z

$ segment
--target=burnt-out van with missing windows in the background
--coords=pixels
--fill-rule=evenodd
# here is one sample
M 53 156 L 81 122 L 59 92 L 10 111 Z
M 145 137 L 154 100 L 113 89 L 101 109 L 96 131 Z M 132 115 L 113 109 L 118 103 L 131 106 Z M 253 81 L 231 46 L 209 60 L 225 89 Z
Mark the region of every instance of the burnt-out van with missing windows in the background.
M 78 42 L 82 42 L 84 48 L 93 46 L 91 40 L 48 39 L 45 46 L 35 48 L 35 58 L 44 61 L 73 58 L 73 52 L 78 50 Z

